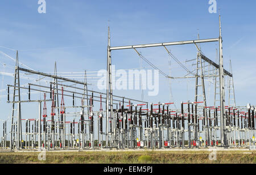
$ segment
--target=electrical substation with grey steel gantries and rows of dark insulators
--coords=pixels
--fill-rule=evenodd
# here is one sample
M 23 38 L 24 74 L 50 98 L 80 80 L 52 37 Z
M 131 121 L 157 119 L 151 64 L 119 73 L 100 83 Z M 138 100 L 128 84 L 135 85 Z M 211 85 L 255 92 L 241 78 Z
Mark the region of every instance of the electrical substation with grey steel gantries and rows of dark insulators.
M 86 71 L 81 81 L 58 75 L 56 64 L 54 74 L 29 69 L 19 63 L 17 51 L 14 83 L 6 87 L 6 101 L 12 107 L 11 118 L 2 123 L 0 147 L 2 150 L 48 151 L 255 148 L 256 109 L 250 104 L 236 105 L 232 67 L 230 65 L 228 71 L 223 66 L 221 16 L 219 34 L 213 39 L 111 46 L 109 28 L 106 92 L 89 88 Z M 201 52 L 200 43 L 208 42 L 218 43 L 216 61 Z M 195 71 L 189 71 L 167 48 L 189 44 L 197 48 Z M 152 47 L 163 47 L 168 56 L 188 72 L 189 76 L 179 79 L 196 80 L 195 91 L 190 92 L 195 92 L 195 99 L 184 99 L 174 108 L 173 101 L 161 101 L 157 96 L 155 101 L 144 101 L 113 94 L 112 52 L 134 50 L 148 65 L 158 69 L 137 50 Z M 205 67 L 209 67 L 210 71 L 207 72 Z M 39 80 L 38 83 L 22 86 L 21 72 L 50 80 L 47 85 L 40 84 Z M 163 71 L 159 72 L 167 79 L 175 79 Z M 209 77 L 214 80 L 213 106 L 208 105 L 205 95 L 205 79 Z M 228 89 L 224 87 L 224 78 L 228 79 Z M 25 97 L 22 100 L 20 91 L 27 92 L 26 100 Z M 34 99 L 32 94 L 35 92 L 42 93 L 43 99 Z M 225 93 L 233 103 L 225 100 Z M 75 103 L 76 100 L 80 103 Z M 22 116 L 23 104 L 31 103 L 38 105 L 38 114 L 30 118 Z M 74 116 L 79 117 L 74 119 Z

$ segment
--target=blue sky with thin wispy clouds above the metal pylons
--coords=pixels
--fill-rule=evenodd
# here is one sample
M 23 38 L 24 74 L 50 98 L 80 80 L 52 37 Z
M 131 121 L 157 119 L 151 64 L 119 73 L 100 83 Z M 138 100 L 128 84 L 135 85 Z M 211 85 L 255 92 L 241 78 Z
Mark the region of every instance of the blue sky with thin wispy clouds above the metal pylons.
M 208 12 L 208 0 L 46 0 L 46 3 L 46 14 L 39 14 L 36 0 L 0 2 L 0 46 L 19 50 L 20 62 L 42 72 L 53 72 L 55 61 L 59 72 L 106 69 L 108 25 L 112 46 L 193 40 L 197 38 L 197 33 L 200 33 L 201 39 L 218 37 L 218 13 Z M 224 67 L 229 70 L 231 59 L 237 105 L 255 104 L 255 6 L 255 1 L 217 1 L 222 15 Z M 216 58 L 216 48 L 217 43 L 201 44 L 205 55 L 212 60 Z M 168 49 L 181 62 L 196 57 L 194 45 L 170 46 Z M 0 50 L 15 58 L 13 50 L 3 47 Z M 139 51 L 168 72 L 168 55 L 163 48 Z M 139 67 L 139 57 L 134 50 L 114 51 L 112 59 L 116 69 Z M 14 66 L 13 61 L 2 55 L 0 60 Z M 185 75 L 174 61 L 172 63 L 174 75 Z M 143 62 L 142 66 L 148 65 Z M 1 72 L 14 72 L 8 68 L 3 70 L 2 65 L 0 69 Z M 163 77 L 160 77 L 160 81 L 159 95 L 144 95 L 144 100 L 153 103 L 170 101 L 168 81 Z M 12 77 L 1 77 L 1 89 L 12 83 Z M 172 93 L 175 103 L 179 105 L 180 101 L 193 101 L 194 87 L 193 80 L 174 80 Z M 97 90 L 95 86 L 90 88 Z M 213 86 L 207 89 L 208 92 L 211 96 L 209 105 L 212 105 Z M 136 99 L 141 97 L 141 91 L 114 93 Z M 5 92 L 1 92 L 1 95 L 5 95 Z M 10 115 L 10 105 L 6 104 L 5 98 L 1 98 L 0 103 L 3 120 Z M 23 113 L 32 115 L 28 107 L 24 107 Z

